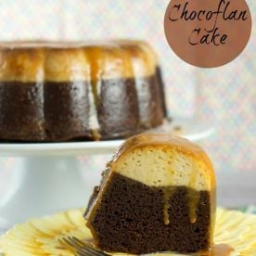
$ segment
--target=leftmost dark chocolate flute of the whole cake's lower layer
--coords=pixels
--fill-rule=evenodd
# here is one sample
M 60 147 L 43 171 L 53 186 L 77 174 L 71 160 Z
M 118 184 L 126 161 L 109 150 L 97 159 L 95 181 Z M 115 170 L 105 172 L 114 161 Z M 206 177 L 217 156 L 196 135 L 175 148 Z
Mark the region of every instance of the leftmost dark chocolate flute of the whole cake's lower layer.
M 0 83 L 0 139 L 45 139 L 42 83 Z

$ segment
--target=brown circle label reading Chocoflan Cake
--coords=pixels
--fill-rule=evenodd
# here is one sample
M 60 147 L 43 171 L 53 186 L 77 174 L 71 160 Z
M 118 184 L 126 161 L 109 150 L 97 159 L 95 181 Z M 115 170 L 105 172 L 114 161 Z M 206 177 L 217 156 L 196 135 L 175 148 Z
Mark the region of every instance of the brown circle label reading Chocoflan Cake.
M 172 0 L 164 31 L 175 54 L 194 66 L 222 66 L 250 40 L 250 8 L 245 0 Z

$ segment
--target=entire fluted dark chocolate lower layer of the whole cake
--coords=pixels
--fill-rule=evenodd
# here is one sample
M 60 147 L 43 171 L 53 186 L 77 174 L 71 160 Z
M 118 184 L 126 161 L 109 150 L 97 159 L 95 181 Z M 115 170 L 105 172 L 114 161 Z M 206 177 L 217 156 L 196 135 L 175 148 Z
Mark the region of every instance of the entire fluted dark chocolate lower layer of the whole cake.
M 109 139 L 160 125 L 154 76 L 97 81 L 0 83 L 0 139 Z

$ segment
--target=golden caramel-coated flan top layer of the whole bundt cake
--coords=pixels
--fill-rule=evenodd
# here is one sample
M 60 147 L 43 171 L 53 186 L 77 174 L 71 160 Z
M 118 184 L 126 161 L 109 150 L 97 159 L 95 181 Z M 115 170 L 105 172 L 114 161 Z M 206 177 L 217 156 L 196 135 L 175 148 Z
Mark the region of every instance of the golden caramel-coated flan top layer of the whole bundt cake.
M 155 74 L 158 63 L 149 46 L 141 44 L 0 44 L 0 81 L 96 82 L 149 77 Z

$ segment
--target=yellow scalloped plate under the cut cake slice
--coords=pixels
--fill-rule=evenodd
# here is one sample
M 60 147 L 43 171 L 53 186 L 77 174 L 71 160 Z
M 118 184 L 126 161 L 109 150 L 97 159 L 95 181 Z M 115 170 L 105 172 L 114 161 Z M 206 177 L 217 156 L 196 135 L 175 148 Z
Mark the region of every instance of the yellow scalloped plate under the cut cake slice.
M 0 237 L 0 251 L 10 256 L 74 255 L 63 248 L 58 238 L 73 236 L 92 239 L 82 214 L 82 210 L 70 210 L 17 224 Z M 234 249 L 230 255 L 255 256 L 256 215 L 218 209 L 214 243 L 228 244 Z

